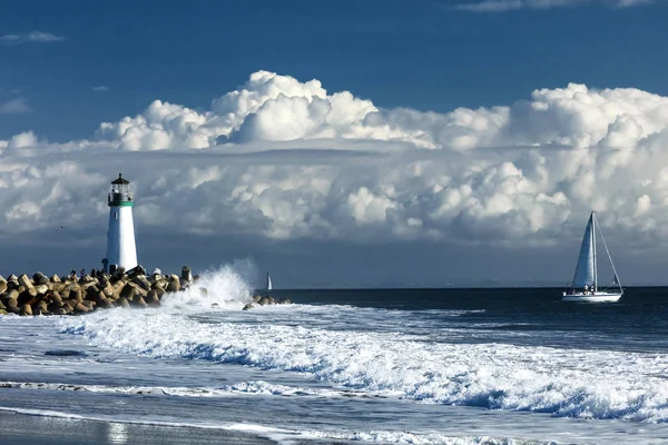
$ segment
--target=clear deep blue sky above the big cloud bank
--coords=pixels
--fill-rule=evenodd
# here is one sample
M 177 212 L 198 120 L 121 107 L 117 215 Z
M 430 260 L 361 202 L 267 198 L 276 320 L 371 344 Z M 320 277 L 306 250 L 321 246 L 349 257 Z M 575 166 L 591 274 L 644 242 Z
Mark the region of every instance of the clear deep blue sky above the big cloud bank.
M 158 98 L 208 108 L 259 69 L 316 78 L 380 107 L 435 111 L 568 82 L 668 93 L 665 1 L 497 13 L 454 8 L 463 3 L 3 2 L 0 33 L 65 40 L 0 44 L 6 100 L 19 90 L 32 110 L 3 115 L 0 138 L 29 129 L 53 141 L 90 137 L 100 121 Z

